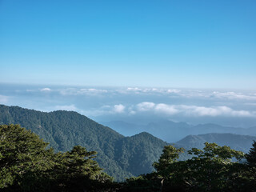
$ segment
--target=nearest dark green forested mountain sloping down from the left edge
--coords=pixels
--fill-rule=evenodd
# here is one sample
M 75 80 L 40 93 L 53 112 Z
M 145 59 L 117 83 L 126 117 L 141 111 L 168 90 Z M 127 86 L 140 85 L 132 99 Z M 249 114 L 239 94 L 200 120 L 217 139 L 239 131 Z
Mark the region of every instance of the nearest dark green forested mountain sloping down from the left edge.
M 152 163 L 158 160 L 163 146 L 168 144 L 147 133 L 124 137 L 73 111 L 46 113 L 0 105 L 0 124 L 10 123 L 32 130 L 50 142 L 56 151 L 71 150 L 77 145 L 96 150 L 98 164 L 118 181 L 150 173 Z

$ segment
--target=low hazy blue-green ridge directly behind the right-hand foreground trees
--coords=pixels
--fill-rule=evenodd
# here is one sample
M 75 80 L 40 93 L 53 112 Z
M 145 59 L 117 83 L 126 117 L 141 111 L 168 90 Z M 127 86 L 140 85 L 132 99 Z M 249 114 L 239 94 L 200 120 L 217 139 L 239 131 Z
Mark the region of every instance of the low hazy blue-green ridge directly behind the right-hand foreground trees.
M 247 153 L 256 141 L 255 136 L 241 134 L 198 134 L 188 135 L 186 138 L 176 142 L 179 146 L 202 149 L 205 142 L 216 142 L 219 146 L 230 146 L 234 150 L 242 150 Z

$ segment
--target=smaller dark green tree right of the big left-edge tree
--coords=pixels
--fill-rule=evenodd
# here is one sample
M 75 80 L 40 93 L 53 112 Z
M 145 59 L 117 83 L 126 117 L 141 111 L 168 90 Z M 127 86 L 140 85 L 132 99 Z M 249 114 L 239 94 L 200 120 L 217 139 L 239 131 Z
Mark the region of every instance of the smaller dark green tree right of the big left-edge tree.
M 55 187 L 62 191 L 84 191 L 95 190 L 99 183 L 113 182 L 114 178 L 103 173 L 93 160 L 96 154 L 82 146 L 74 146 L 71 151 L 56 154 L 52 172 L 58 184 Z

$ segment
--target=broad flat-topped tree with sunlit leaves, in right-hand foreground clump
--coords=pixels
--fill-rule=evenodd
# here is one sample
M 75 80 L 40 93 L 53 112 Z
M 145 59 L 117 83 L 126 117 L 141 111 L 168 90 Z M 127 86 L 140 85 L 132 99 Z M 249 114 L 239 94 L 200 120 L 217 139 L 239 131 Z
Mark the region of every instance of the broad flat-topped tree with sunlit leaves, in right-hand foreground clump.
M 186 161 L 184 182 L 190 190 L 218 191 L 230 190 L 229 186 L 238 173 L 235 167 L 244 158 L 241 151 L 231 150 L 229 146 L 218 146 L 216 143 L 205 143 L 203 150 L 193 148 L 188 151 L 193 158 Z

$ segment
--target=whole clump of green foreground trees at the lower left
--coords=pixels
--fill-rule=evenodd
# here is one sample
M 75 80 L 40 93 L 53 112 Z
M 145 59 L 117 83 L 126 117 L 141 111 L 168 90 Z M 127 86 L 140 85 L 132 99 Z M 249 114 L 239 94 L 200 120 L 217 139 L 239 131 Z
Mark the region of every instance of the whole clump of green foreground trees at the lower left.
M 0 126 L 2 191 L 94 191 L 113 181 L 92 159 L 95 151 L 74 146 L 54 154 L 47 145 L 18 125 Z

